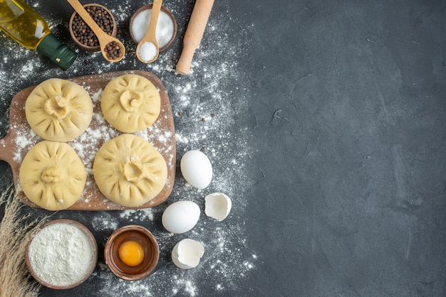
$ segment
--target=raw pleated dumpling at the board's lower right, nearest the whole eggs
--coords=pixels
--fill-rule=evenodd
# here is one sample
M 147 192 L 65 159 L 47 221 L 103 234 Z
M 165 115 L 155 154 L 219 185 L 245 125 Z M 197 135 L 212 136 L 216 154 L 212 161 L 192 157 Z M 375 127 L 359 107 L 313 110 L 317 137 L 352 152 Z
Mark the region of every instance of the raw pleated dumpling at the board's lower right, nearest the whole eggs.
M 118 205 L 135 207 L 161 192 L 167 180 L 167 165 L 145 139 L 121 134 L 99 148 L 93 175 L 106 198 Z

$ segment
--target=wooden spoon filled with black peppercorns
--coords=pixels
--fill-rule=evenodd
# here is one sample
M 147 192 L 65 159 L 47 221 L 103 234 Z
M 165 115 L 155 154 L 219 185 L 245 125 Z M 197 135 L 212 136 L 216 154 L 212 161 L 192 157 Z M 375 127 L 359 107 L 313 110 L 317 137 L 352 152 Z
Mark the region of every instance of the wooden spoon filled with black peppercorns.
M 78 0 L 67 0 L 73 6 L 73 9 L 81 16 L 83 21 L 87 23 L 90 29 L 98 37 L 100 51 L 108 62 L 118 62 L 124 58 L 125 47 L 118 39 L 105 33 L 98 24 L 91 18 L 90 14 L 83 8 Z

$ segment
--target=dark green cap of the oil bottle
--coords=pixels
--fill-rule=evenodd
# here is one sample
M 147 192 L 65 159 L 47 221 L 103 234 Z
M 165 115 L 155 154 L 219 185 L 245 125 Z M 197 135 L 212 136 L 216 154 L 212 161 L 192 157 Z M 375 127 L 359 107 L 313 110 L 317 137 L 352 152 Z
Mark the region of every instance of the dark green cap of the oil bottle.
M 37 46 L 37 50 L 50 58 L 62 70 L 67 70 L 78 56 L 51 33 L 42 39 Z

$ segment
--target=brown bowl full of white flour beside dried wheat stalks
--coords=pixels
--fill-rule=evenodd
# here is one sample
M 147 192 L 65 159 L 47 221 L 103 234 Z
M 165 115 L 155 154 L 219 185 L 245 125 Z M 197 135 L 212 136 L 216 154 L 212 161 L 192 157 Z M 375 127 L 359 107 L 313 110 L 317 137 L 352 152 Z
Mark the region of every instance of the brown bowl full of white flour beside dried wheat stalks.
M 43 224 L 26 247 L 26 266 L 36 281 L 57 290 L 82 284 L 98 261 L 98 244 L 90 230 L 73 220 Z

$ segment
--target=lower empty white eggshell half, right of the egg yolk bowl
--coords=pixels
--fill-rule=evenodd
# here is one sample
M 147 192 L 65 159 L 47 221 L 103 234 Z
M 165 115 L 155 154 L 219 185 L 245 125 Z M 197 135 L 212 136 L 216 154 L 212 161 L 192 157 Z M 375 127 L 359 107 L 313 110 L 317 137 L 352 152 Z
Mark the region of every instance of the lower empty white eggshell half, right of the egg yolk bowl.
M 203 254 L 202 244 L 193 239 L 182 239 L 172 249 L 172 261 L 181 269 L 191 269 L 197 267 Z

